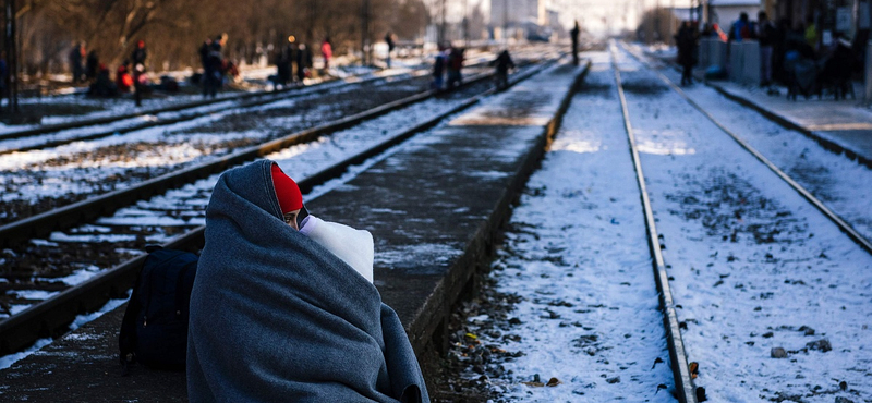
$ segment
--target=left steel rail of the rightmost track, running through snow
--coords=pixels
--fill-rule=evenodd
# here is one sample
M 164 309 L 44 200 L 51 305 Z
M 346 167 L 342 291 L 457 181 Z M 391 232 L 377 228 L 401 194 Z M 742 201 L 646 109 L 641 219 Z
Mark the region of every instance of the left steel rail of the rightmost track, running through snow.
M 635 135 L 633 133 L 632 124 L 630 123 L 630 111 L 627 107 L 627 98 L 623 94 L 623 84 L 621 83 L 620 69 L 618 68 L 615 52 L 615 42 L 610 41 L 609 53 L 611 56 L 611 66 L 615 70 L 615 82 L 617 83 L 618 87 L 618 98 L 620 98 L 621 112 L 623 113 L 623 127 L 627 131 L 627 137 L 630 143 L 630 154 L 633 159 L 635 179 L 637 183 L 639 184 L 639 192 L 641 194 L 642 209 L 645 216 L 645 228 L 647 229 L 647 246 L 651 249 L 651 255 L 654 257 L 652 266 L 654 269 L 654 279 L 657 283 L 657 292 L 659 293 L 661 310 L 663 312 L 663 325 L 666 330 L 666 344 L 669 350 L 669 358 L 673 362 L 671 367 L 673 378 L 675 378 L 676 396 L 681 403 L 697 403 L 697 391 L 693 387 L 693 380 L 690 376 L 690 368 L 688 367 L 685 342 L 681 339 L 678 315 L 676 315 L 675 312 L 675 301 L 673 300 L 673 292 L 669 288 L 669 274 L 666 272 L 666 264 L 664 262 L 663 253 L 661 252 L 659 239 L 657 237 L 657 228 L 654 222 L 654 211 L 651 208 L 651 200 L 645 186 L 645 175 L 642 172 L 642 162 L 639 158 L 639 148 L 635 144 Z

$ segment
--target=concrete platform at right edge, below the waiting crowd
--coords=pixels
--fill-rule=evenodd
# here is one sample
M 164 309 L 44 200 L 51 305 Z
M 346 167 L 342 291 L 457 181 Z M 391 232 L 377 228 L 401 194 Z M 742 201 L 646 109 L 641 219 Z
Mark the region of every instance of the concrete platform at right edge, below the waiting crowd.
M 702 72 L 698 72 L 701 76 Z M 796 101 L 787 99 L 787 88 L 780 95 L 767 95 L 765 89 L 742 86 L 726 81 L 708 81 L 706 84 L 724 96 L 755 109 L 758 112 L 789 129 L 814 138 L 824 147 L 845 152 L 848 157 L 872 168 L 872 110 L 860 105 L 860 100 L 835 100 L 813 96 Z M 862 88 L 855 94 L 862 97 Z

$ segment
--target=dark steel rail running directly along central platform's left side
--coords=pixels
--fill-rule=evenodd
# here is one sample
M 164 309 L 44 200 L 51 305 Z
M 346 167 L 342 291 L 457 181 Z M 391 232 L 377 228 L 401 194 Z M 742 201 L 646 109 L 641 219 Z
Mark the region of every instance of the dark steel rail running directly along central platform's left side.
M 554 61 L 543 63 L 531 69 L 530 71 L 518 74 L 511 78 L 510 85 L 514 85 L 523 80 L 529 78 L 530 76 L 550 65 Z M 480 77 L 479 80 L 484 80 L 491 76 L 491 74 L 486 74 L 485 77 Z M 436 126 L 446 118 L 470 108 L 471 106 L 477 103 L 483 97 L 494 93 L 495 88 L 491 88 L 482 94 L 475 95 L 451 110 L 431 118 L 425 122 L 419 123 L 414 127 L 405 130 L 395 136 L 386 138 L 385 141 L 352 157 L 337 162 L 331 167 L 318 171 L 307 178 L 301 179 L 298 182 L 300 191 L 306 194 L 311 192 L 313 187 L 335 178 L 341 176 L 349 167 L 360 164 L 367 159 L 376 157 L 389 148 L 405 142 L 415 134 Z M 283 144 L 281 139 L 274 143 Z M 288 143 L 288 145 L 290 144 L 293 143 Z M 257 157 L 262 157 L 267 152 L 259 154 Z M 240 163 L 242 161 L 240 161 Z M 231 163 L 228 161 L 222 163 L 220 167 L 221 170 L 226 170 L 230 166 Z M 164 247 L 196 252 L 203 246 L 204 231 L 205 227 L 195 228 L 168 241 L 164 244 Z M 140 268 L 145 261 L 145 258 L 146 256 L 143 255 L 121 262 L 74 288 L 64 290 L 51 298 L 32 305 L 21 313 L 0 321 L 0 355 L 10 354 L 26 349 L 43 338 L 60 337 L 69 330 L 69 325 L 77 315 L 97 310 L 111 298 L 125 298 L 128 296 L 128 290 L 130 290 L 131 285 L 133 284 Z

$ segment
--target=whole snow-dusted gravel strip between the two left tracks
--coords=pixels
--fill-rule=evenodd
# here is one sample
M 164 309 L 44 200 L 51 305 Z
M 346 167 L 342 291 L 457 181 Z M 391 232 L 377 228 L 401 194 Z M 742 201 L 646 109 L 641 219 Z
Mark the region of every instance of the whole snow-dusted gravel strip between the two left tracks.
M 471 75 L 481 74 L 481 68 L 471 68 Z M 187 118 L 193 121 L 49 150 L 0 156 L 0 185 L 5 193 L 0 203 L 0 224 L 108 194 L 341 115 L 362 113 L 422 94 L 426 86 L 426 77 L 383 85 L 354 83 L 327 88 L 327 95 L 301 94 L 293 99 L 269 98 L 268 103 L 257 101 L 254 106 L 219 106 L 220 111 L 191 113 Z M 66 191 L 58 192 L 57 187 Z

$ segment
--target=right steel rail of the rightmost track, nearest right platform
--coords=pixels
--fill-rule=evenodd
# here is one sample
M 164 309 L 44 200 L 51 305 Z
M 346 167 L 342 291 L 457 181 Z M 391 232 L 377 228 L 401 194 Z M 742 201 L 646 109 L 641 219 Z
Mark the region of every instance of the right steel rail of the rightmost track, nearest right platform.
M 637 54 L 633 54 L 633 52 L 631 52 L 629 49 L 625 48 L 625 51 L 628 54 L 632 56 L 633 59 L 638 60 L 643 65 L 651 68 L 644 60 L 642 60 Z M 720 129 L 724 133 L 726 133 L 730 137 L 732 137 L 732 139 L 736 143 L 738 143 L 742 148 L 744 148 L 746 151 L 751 152 L 751 155 L 754 156 L 754 158 L 756 158 L 760 162 L 763 162 L 763 164 L 765 164 L 766 168 L 768 168 L 772 172 L 774 172 L 776 175 L 778 175 L 778 178 L 780 178 L 782 180 L 787 182 L 787 184 L 790 185 L 790 187 L 792 187 L 794 191 L 799 193 L 800 196 L 802 196 L 806 200 L 811 203 L 811 205 L 814 206 L 815 208 L 818 208 L 818 210 L 820 210 L 824 216 L 826 216 L 826 218 L 832 220 L 836 224 L 836 227 L 838 227 L 838 229 L 841 230 L 841 232 L 844 232 L 846 235 L 848 235 L 848 237 L 851 239 L 851 241 L 857 243 L 867 253 L 872 254 L 872 242 L 870 242 L 870 240 L 867 240 L 863 235 L 861 235 L 859 232 L 857 232 L 857 230 L 855 230 L 853 227 L 851 227 L 848 222 L 846 222 L 844 219 L 841 219 L 841 217 L 839 217 L 837 213 L 835 213 L 833 210 L 831 210 L 828 207 L 826 207 L 826 205 L 824 205 L 823 202 L 821 202 L 819 198 L 814 197 L 814 195 L 811 194 L 811 192 L 809 192 L 808 190 L 802 187 L 802 185 L 800 185 L 797 181 L 795 181 L 792 178 L 790 178 L 790 175 L 788 175 L 787 173 L 782 171 L 772 161 L 766 159 L 766 157 L 764 157 L 760 151 L 758 151 L 754 147 L 752 147 L 750 144 L 748 144 L 748 142 L 746 142 L 744 139 L 739 137 L 739 135 L 737 135 L 736 133 L 734 133 L 732 131 L 730 131 L 729 129 L 724 126 L 719 121 L 717 121 L 717 119 L 715 119 L 715 117 L 713 117 L 705 109 L 700 107 L 700 105 L 697 103 L 693 99 L 690 99 L 690 97 L 688 97 L 688 95 L 681 88 L 679 88 L 677 85 L 675 85 L 675 83 L 673 83 L 666 75 L 664 75 L 663 73 L 661 73 L 657 70 L 654 70 L 654 69 L 651 69 L 651 70 L 653 72 L 657 73 L 659 78 L 664 83 L 666 83 L 666 85 L 669 86 L 673 90 L 678 93 L 678 95 L 681 96 L 681 98 L 683 98 L 685 101 L 690 103 L 690 106 L 693 107 L 693 109 L 697 109 L 700 113 L 705 115 L 705 118 L 708 119 L 712 123 L 714 123 L 717 126 L 717 129 Z

